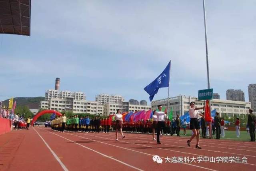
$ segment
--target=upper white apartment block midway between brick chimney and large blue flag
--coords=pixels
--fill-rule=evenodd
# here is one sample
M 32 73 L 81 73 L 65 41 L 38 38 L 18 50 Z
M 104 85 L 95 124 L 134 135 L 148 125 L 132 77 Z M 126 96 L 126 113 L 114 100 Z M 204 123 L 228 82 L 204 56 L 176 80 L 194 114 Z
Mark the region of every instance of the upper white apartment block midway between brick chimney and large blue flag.
M 106 103 L 121 103 L 124 101 L 124 97 L 122 95 L 98 94 L 95 96 L 95 101 L 100 105 Z

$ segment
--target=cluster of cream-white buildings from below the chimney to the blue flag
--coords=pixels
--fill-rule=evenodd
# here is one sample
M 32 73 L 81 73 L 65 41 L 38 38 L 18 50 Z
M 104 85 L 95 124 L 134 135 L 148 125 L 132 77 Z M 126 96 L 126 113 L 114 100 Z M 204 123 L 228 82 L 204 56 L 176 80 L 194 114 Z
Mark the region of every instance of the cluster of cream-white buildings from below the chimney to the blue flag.
M 110 115 L 116 113 L 117 109 L 122 112 L 150 109 L 147 105 L 130 105 L 121 95 L 100 94 L 96 95 L 96 101 L 86 101 L 83 99 L 85 93 L 82 95 L 71 91 L 47 90 L 45 98 L 45 101 L 40 102 L 39 108 L 73 113 Z

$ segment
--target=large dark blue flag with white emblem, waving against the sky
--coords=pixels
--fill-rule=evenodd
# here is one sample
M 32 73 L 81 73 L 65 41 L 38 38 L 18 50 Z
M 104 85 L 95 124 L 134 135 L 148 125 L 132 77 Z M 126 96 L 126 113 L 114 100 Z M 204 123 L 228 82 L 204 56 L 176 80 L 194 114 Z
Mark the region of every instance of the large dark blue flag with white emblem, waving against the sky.
M 154 95 L 158 92 L 159 88 L 162 87 L 169 87 L 169 80 L 170 80 L 170 67 L 171 61 L 166 66 L 164 71 L 149 85 L 147 85 L 144 90 L 150 95 L 150 101 L 153 100 Z

